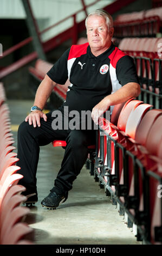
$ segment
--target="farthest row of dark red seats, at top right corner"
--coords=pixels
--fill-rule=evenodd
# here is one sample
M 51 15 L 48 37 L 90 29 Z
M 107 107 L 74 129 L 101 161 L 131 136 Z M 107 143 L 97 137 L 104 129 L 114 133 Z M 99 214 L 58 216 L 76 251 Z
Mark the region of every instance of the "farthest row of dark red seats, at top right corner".
M 120 14 L 114 20 L 114 36 L 154 36 L 161 27 L 162 7 Z

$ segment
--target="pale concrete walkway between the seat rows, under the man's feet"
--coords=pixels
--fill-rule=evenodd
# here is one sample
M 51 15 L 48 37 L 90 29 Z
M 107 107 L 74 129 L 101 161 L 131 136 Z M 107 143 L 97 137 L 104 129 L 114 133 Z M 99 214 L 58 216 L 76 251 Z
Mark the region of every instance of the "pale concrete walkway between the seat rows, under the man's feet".
M 33 101 L 7 103 L 17 147 L 17 127 L 30 112 Z M 53 187 L 63 154 L 62 148 L 53 148 L 52 144 L 41 147 L 37 169 L 38 203 L 25 218 L 34 229 L 30 239 L 37 245 L 140 245 L 132 228 L 127 228 L 124 216 L 119 215 L 116 205 L 85 166 L 64 204 L 57 210 L 41 206 L 41 200 Z

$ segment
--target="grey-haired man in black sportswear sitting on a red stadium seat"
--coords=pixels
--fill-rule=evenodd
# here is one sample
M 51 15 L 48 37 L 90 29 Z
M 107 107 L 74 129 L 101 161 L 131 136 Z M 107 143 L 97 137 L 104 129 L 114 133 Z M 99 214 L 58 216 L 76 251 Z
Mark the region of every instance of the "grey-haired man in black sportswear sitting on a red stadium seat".
M 73 181 L 80 173 L 88 155 L 87 146 L 95 143 L 95 129 L 82 129 L 78 119 L 77 129 L 70 125 L 74 111 L 90 111 L 90 122 L 98 125 L 99 117 L 109 107 L 125 102 L 140 94 L 140 85 L 133 59 L 112 44 L 113 19 L 106 11 L 96 10 L 86 19 L 88 42 L 72 45 L 48 71 L 37 89 L 31 113 L 18 129 L 18 165 L 24 178 L 20 184 L 27 188 L 27 202 L 37 202 L 36 170 L 40 146 L 55 139 L 66 140 L 61 169 L 54 187 L 41 202 L 42 206 L 55 209 L 68 197 Z M 44 114 L 42 109 L 56 83 L 70 86 L 66 101 L 55 111 Z M 58 129 L 56 114 L 62 114 Z M 71 115 L 69 114 L 71 113 Z M 83 120 L 86 124 L 88 120 Z M 55 124 L 55 125 L 54 125 Z M 72 124 L 72 123 L 71 123 Z M 44 160 L 46 161 L 46 160 Z

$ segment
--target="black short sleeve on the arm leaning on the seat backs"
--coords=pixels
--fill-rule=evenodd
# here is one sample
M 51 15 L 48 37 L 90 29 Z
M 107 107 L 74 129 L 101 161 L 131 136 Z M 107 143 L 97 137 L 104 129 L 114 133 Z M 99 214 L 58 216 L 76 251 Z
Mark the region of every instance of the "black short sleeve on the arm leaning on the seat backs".
M 122 86 L 131 82 L 139 83 L 132 57 L 126 55 L 118 60 L 116 64 L 116 76 Z

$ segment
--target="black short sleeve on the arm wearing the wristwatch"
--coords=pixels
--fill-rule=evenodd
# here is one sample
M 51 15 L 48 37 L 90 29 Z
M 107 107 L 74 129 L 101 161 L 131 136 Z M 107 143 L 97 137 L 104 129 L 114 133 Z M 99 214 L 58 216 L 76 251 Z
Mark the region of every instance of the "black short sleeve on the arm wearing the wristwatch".
M 67 61 L 70 48 L 65 51 L 52 68 L 47 72 L 47 75 L 56 83 L 65 84 L 68 79 Z

